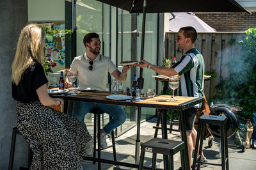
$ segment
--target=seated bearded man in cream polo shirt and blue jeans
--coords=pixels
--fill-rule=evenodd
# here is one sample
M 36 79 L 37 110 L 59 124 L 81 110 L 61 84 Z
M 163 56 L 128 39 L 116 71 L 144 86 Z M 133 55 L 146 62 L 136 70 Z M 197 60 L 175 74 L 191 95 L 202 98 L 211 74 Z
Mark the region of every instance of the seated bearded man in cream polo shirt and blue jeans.
M 88 33 L 85 35 L 83 43 L 86 47 L 86 53 L 74 58 L 70 66 L 70 71 L 76 72 L 79 80 L 79 86 L 81 86 L 81 88 L 92 88 L 106 91 L 108 72 L 111 73 L 115 79 L 125 82 L 127 71 L 131 68 L 131 65 L 124 66 L 122 72 L 120 72 L 111 59 L 102 56 L 100 54 L 100 38 L 97 33 Z M 70 82 L 66 77 L 65 87 L 67 88 L 67 86 L 70 86 Z M 90 102 L 76 101 L 74 102 L 72 116 L 80 120 L 86 130 L 87 127 L 84 123 L 84 116 L 94 107 L 99 108 L 112 117 L 109 123 L 102 128 L 100 132 L 100 146 L 102 149 L 106 149 L 108 148 L 106 135 L 124 123 L 126 120 L 126 114 L 119 105 L 93 104 Z M 93 140 L 91 138 L 90 143 L 86 146 L 86 155 L 92 155 L 92 144 Z

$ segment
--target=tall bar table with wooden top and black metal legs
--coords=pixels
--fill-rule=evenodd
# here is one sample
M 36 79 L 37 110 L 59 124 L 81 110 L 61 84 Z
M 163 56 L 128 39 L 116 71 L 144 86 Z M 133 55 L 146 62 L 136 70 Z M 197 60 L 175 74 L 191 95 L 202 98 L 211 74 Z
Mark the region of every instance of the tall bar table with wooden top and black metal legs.
M 179 124 L 180 124 L 180 131 L 182 135 L 182 141 L 185 143 L 185 162 L 184 169 L 190 169 L 189 166 L 189 156 L 188 156 L 188 144 L 187 144 L 187 137 L 186 137 L 186 125 L 185 125 L 185 114 L 184 111 L 189 107 L 193 107 L 193 105 L 202 103 L 204 98 L 195 98 L 195 97 L 180 97 L 177 96 L 175 99 L 177 101 L 170 102 L 171 96 L 169 95 L 157 95 L 154 98 L 143 98 L 139 102 L 132 102 L 132 100 L 110 100 L 107 98 L 108 95 L 111 95 L 109 91 L 97 91 L 97 90 L 89 90 L 89 91 L 81 91 L 81 93 L 77 95 L 69 95 L 66 94 L 51 94 L 50 96 L 53 98 L 63 98 L 63 100 L 73 100 L 73 101 L 83 101 L 83 102 L 92 102 L 92 103 L 99 103 L 99 104 L 111 104 L 111 105 L 127 105 L 127 106 L 134 106 L 134 107 L 150 107 L 154 109 L 162 109 L 161 118 L 162 118 L 162 137 L 163 139 L 167 139 L 167 125 L 166 125 L 166 111 L 168 109 L 177 110 L 179 111 Z M 67 113 L 67 112 L 66 112 Z M 140 114 L 140 113 L 139 113 Z M 118 162 L 115 160 L 107 160 L 103 158 L 92 158 L 86 157 L 86 160 L 94 160 L 98 162 L 103 162 L 107 164 L 119 165 L 119 166 L 126 166 L 126 167 L 134 167 L 138 168 L 138 160 L 139 160 L 139 153 L 140 153 L 140 115 L 137 116 L 138 120 L 137 123 L 137 134 L 136 134 L 136 157 L 135 157 L 135 164 L 130 164 L 126 162 Z M 167 163 L 166 157 L 164 158 L 164 164 Z

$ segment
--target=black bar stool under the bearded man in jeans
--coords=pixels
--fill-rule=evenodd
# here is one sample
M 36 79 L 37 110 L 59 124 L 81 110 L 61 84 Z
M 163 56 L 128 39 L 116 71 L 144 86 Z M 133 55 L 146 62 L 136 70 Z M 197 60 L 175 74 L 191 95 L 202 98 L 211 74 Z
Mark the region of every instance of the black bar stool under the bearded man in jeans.
M 96 157 L 96 150 L 98 151 L 98 159 L 100 159 L 100 114 L 103 115 L 103 111 L 101 111 L 99 108 L 94 107 L 90 113 L 94 114 L 94 125 L 93 125 L 93 158 Z M 111 119 L 111 116 L 109 116 Z M 97 134 L 97 139 L 98 139 L 98 148 L 96 148 L 96 134 Z M 115 145 L 115 135 L 114 131 L 111 132 L 111 138 L 112 138 L 112 146 L 113 147 L 113 156 L 114 160 L 116 160 L 116 145 Z M 93 161 L 93 164 L 95 164 L 95 161 Z M 100 161 L 98 161 L 98 169 L 101 169 L 101 164 Z

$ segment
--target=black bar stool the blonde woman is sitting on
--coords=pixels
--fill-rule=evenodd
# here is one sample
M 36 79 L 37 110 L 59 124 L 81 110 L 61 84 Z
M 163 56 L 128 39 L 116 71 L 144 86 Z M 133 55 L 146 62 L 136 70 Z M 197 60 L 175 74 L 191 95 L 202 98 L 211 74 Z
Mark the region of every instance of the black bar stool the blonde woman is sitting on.
M 12 144 L 11 144 L 11 152 L 10 152 L 10 158 L 9 158 L 9 170 L 12 170 L 13 167 L 13 157 L 15 153 L 15 144 L 16 144 L 16 136 L 21 135 L 18 128 L 15 127 L 12 129 Z M 32 162 L 32 157 L 33 157 L 33 151 L 28 147 L 28 167 L 31 166 Z M 25 167 L 20 167 L 20 169 L 27 169 Z M 28 168 L 29 169 L 29 168 Z

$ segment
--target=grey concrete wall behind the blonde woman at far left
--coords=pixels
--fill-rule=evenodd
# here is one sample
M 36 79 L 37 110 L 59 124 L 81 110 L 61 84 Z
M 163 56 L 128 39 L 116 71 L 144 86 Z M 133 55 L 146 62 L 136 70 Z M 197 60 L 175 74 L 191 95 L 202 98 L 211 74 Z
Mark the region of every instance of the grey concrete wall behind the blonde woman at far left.
M 0 1 L 0 169 L 8 169 L 12 128 L 16 125 L 11 65 L 22 27 L 28 23 L 28 0 Z M 18 135 L 13 169 L 27 167 L 28 144 Z

